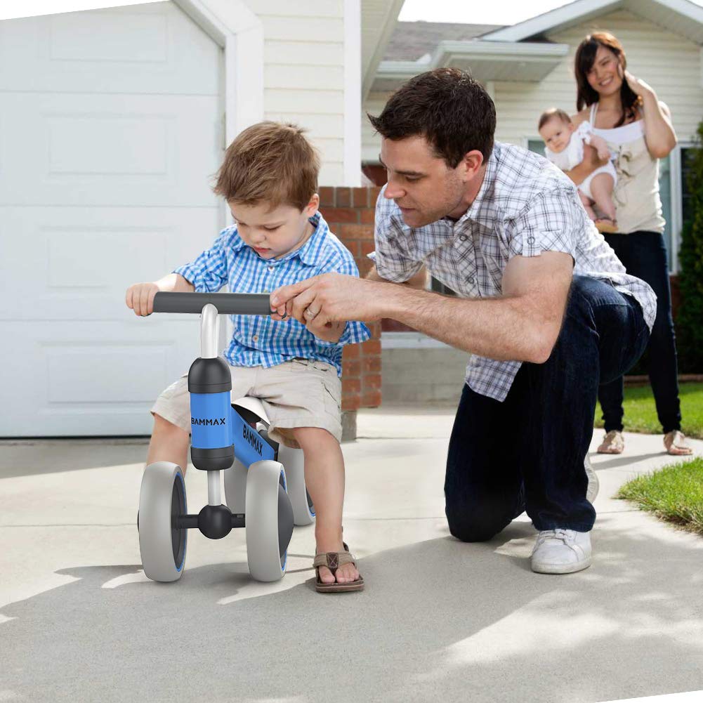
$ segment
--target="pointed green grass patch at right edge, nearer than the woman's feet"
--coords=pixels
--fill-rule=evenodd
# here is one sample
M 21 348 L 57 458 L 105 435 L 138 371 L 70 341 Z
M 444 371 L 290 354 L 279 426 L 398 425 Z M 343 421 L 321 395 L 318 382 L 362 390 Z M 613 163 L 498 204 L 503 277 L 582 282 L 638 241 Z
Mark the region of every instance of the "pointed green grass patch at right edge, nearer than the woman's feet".
M 703 534 L 703 458 L 665 466 L 621 486 L 617 498 Z

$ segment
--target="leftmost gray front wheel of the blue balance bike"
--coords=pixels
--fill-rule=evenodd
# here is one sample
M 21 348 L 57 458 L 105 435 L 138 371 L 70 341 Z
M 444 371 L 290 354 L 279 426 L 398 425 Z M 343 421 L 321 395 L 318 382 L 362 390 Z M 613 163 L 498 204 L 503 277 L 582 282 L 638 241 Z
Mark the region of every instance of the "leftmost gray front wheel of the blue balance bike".
M 187 512 L 181 467 L 170 461 L 148 465 L 141 478 L 138 530 L 141 563 L 152 581 L 181 578 L 188 530 L 176 528 L 174 517 Z

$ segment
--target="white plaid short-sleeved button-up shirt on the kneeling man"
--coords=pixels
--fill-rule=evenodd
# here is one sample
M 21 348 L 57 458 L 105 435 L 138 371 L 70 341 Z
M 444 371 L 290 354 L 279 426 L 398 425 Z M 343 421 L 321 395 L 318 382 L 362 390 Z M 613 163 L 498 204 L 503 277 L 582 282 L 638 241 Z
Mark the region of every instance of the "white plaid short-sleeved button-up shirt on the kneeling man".
M 574 273 L 610 280 L 634 297 L 651 330 L 657 314 L 654 291 L 625 273 L 588 218 L 572 181 L 545 158 L 496 143 L 476 200 L 456 222 L 444 218 L 409 227 L 384 191 L 376 203 L 373 254 L 382 278 L 402 283 L 425 264 L 460 297 L 496 297 L 503 295 L 503 271 L 512 257 L 566 252 L 574 259 Z M 520 361 L 472 355 L 466 382 L 473 391 L 503 401 L 520 366 Z

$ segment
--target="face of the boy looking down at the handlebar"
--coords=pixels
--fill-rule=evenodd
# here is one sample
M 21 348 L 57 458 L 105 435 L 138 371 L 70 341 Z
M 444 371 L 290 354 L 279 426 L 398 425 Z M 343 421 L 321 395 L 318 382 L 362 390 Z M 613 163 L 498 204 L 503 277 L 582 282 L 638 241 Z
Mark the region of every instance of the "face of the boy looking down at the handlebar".
M 313 233 L 308 219 L 316 212 L 320 198 L 317 193 L 301 212 L 292 205 L 271 209 L 269 202 L 256 205 L 228 203 L 236 221 L 239 236 L 262 259 L 278 259 L 300 247 Z

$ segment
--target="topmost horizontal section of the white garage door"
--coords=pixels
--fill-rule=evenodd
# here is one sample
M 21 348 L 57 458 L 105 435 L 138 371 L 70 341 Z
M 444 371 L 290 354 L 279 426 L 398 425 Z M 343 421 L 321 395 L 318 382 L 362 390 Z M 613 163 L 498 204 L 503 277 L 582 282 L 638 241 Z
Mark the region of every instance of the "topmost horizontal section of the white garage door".
M 216 96 L 217 72 L 200 67 L 219 60 L 217 44 L 172 3 L 0 23 L 0 90 Z

